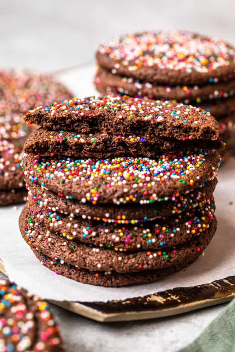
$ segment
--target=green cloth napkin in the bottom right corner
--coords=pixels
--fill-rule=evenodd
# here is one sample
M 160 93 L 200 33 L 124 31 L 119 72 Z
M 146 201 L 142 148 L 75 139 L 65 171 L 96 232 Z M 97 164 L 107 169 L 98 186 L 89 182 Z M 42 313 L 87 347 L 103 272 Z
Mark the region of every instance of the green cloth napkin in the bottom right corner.
M 235 352 L 235 299 L 196 340 L 178 352 Z

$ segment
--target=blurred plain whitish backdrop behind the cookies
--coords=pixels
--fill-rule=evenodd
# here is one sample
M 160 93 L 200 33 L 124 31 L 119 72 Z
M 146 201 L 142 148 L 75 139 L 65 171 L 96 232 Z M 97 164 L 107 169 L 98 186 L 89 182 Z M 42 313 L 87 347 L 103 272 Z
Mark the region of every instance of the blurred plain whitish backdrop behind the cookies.
M 235 44 L 234 0 L 0 0 L 0 67 L 58 70 L 91 61 L 111 36 L 187 29 Z

